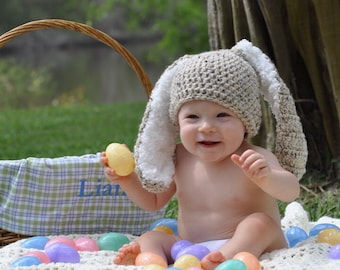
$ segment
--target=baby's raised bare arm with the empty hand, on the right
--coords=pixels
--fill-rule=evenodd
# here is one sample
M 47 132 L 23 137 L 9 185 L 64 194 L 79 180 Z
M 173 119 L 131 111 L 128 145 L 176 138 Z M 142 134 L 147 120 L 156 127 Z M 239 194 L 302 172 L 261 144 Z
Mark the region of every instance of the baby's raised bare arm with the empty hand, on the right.
M 251 181 L 272 197 L 285 202 L 298 197 L 298 179 L 284 170 L 271 152 L 261 148 L 259 151 L 248 149 L 240 156 L 232 155 L 231 159 Z

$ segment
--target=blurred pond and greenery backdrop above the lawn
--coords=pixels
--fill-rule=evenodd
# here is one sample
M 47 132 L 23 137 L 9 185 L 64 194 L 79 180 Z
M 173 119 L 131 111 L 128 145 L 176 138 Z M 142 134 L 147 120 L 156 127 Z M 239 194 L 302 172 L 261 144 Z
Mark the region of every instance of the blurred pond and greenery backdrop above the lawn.
M 0 33 L 58 18 L 91 25 L 115 38 L 154 83 L 179 56 L 208 50 L 204 1 L 1 0 Z M 30 32 L 0 49 L 0 109 L 146 100 L 125 60 L 83 34 Z

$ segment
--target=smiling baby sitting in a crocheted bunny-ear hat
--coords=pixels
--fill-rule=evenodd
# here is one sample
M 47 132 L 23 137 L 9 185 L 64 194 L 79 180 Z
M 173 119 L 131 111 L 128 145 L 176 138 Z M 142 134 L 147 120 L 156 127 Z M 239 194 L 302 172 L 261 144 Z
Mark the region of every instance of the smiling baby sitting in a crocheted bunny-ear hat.
M 278 157 L 248 141 L 261 124 L 260 94 L 276 117 Z M 179 235 L 148 231 L 114 262 L 134 264 L 148 251 L 171 264 L 171 247 L 181 239 L 210 250 L 203 269 L 238 252 L 259 257 L 286 248 L 277 200 L 299 195 L 306 157 L 293 99 L 258 48 L 244 40 L 231 50 L 180 58 L 152 92 L 135 146 L 136 172 L 120 177 L 105 153 L 100 159 L 108 179 L 145 210 L 161 209 L 176 195 Z

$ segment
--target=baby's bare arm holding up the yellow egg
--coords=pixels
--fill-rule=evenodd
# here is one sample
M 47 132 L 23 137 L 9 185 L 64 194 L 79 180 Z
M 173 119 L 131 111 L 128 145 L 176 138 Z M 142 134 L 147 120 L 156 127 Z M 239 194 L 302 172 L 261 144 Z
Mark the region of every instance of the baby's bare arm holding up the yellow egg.
M 165 192 L 151 193 L 143 188 L 135 172 L 127 176 L 117 175 L 114 170 L 108 166 L 105 152 L 102 153 L 100 157 L 100 163 L 104 166 L 106 177 L 111 182 L 120 185 L 129 199 L 144 210 L 155 211 L 161 209 L 176 192 L 174 182 Z

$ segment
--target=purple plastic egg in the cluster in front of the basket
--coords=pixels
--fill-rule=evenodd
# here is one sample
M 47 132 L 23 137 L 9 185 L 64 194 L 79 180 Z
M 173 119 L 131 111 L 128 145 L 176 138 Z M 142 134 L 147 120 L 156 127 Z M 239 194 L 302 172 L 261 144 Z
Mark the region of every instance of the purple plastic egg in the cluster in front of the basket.
M 63 243 L 54 243 L 45 248 L 46 255 L 51 262 L 58 263 L 79 263 L 80 255 L 78 251 Z

